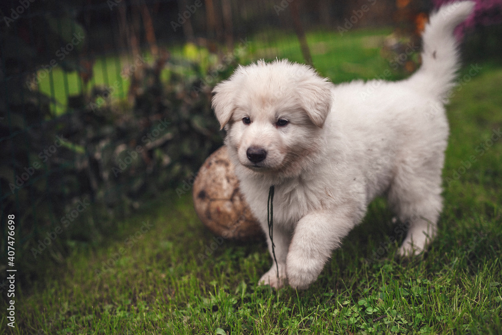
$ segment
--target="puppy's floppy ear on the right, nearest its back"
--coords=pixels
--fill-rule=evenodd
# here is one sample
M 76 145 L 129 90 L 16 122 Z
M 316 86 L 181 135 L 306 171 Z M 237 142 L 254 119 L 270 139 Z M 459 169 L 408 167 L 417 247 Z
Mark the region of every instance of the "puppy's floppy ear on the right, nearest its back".
M 314 125 L 322 128 L 331 109 L 331 82 L 315 74 L 299 82 L 297 87 L 301 106 Z

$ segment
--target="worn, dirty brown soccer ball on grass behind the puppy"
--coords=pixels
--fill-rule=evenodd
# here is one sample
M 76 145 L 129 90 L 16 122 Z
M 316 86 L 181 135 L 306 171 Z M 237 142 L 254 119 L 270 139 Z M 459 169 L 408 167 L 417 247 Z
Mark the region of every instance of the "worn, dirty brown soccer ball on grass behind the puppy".
M 239 181 L 225 146 L 209 156 L 193 184 L 195 211 L 213 234 L 224 239 L 254 240 L 263 237 L 239 190 Z

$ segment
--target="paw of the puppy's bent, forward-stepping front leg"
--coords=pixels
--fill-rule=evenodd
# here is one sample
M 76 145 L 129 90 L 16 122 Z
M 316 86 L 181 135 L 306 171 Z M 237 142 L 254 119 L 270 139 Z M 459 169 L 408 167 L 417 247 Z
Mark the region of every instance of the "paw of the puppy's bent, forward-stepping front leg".
M 289 285 L 304 290 L 312 284 L 324 267 L 324 262 L 290 253 L 286 262 Z

